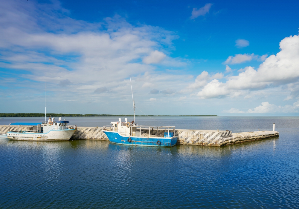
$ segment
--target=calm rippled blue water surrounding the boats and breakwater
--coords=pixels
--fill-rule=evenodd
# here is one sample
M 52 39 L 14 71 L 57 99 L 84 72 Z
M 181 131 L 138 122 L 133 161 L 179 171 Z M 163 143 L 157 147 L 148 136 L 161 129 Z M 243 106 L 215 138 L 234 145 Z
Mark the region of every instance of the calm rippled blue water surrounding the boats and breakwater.
M 118 120 L 66 119 L 79 126 Z M 280 136 L 171 148 L 0 140 L 0 208 L 299 208 L 299 117 L 154 119 L 177 128 L 233 132 L 271 130 L 275 123 Z M 0 125 L 43 120 L 5 118 Z

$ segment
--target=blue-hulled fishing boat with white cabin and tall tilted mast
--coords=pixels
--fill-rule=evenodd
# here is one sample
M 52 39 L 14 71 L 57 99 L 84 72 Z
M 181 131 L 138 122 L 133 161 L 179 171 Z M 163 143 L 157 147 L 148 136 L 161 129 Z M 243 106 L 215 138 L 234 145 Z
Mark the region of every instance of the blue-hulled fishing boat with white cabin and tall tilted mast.
M 131 76 L 130 76 L 131 82 Z M 103 132 L 109 141 L 122 145 L 172 147 L 176 145 L 178 136 L 175 136 L 175 126 L 144 126 L 135 123 L 135 101 L 133 98 L 132 82 L 131 91 L 134 108 L 134 120 L 111 122 L 110 126 L 104 126 Z

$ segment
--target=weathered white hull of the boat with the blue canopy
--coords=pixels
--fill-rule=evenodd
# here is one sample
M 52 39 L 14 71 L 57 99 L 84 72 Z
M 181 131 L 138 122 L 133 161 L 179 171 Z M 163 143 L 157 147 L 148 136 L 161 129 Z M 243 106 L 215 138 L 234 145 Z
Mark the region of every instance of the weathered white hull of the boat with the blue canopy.
M 48 133 L 7 132 L 7 138 L 21 141 L 68 141 L 76 130 L 50 130 Z

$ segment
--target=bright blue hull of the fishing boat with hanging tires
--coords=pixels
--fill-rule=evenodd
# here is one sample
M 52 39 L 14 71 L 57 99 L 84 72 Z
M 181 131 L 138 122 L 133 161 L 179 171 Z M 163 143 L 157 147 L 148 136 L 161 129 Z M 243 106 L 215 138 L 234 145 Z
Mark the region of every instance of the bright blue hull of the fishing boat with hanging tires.
M 151 146 L 151 147 L 172 147 L 176 145 L 178 139 L 177 136 L 169 138 L 157 138 L 157 137 L 138 137 L 138 136 L 120 136 L 119 133 L 113 131 L 103 132 L 107 135 L 108 139 L 112 143 L 121 144 L 121 145 L 133 145 L 133 146 Z M 128 139 L 131 138 L 132 141 L 128 142 Z M 161 144 L 158 145 L 157 141 L 160 141 Z

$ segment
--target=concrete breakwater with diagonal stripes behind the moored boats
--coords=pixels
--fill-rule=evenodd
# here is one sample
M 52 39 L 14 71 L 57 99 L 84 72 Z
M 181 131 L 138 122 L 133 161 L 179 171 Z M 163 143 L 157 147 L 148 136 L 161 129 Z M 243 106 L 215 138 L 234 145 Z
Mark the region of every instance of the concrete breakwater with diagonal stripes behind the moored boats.
M 10 126 L 10 131 L 27 130 L 27 127 Z M 71 139 L 109 140 L 103 127 L 78 127 Z M 0 126 L 0 134 L 7 133 L 8 126 Z M 235 143 L 256 141 L 279 136 L 277 131 L 254 131 L 231 133 L 229 130 L 187 130 L 177 129 L 178 145 L 224 146 Z

